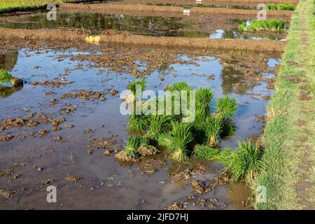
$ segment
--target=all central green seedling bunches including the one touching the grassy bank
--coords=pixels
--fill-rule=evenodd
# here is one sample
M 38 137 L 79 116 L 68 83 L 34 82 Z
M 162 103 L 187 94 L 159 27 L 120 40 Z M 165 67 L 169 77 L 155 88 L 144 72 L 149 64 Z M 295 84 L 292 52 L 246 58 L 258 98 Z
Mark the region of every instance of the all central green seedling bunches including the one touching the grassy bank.
M 133 99 L 137 97 L 137 85 L 144 90 L 145 80 L 136 80 L 129 85 Z M 181 82 L 168 85 L 165 90 L 181 92 L 193 88 Z M 246 180 L 258 172 L 260 151 L 251 142 L 239 142 L 235 151 L 219 148 L 222 137 L 235 134 L 233 117 L 237 111 L 236 100 L 225 96 L 214 103 L 212 91 L 208 88 L 196 90 L 195 99 L 193 123 L 183 123 L 183 114 L 131 115 L 127 125 L 130 137 L 125 149 L 116 154 L 116 158 L 136 162 L 140 157 L 156 155 L 163 148 L 170 159 L 178 162 L 186 162 L 190 158 L 220 162 L 225 171 L 231 174 L 232 182 Z M 158 102 L 164 99 L 150 100 Z

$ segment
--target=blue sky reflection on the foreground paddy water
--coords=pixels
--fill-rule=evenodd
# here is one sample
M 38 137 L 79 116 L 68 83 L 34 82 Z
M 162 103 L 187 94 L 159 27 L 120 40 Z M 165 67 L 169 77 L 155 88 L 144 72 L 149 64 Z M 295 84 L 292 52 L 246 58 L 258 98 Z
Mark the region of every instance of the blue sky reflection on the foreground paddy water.
M 18 55 L 18 61 L 12 71 L 14 76 L 24 78 L 29 81 L 41 81 L 41 80 L 53 80 L 59 73 L 64 74 L 65 71 L 69 72 L 68 76 L 64 76 L 68 81 L 74 81 L 71 85 L 61 86 L 54 91 L 57 92 L 57 96 L 64 92 L 73 92 L 74 90 L 98 90 L 113 88 L 118 91 L 126 89 L 130 80 L 134 80 L 134 76 L 129 73 L 117 73 L 104 68 L 90 68 L 86 62 L 73 61 L 69 58 L 65 58 L 58 62 L 58 57 L 61 55 L 89 55 L 91 52 L 73 52 L 71 50 L 48 50 L 42 54 L 36 54 L 34 51 L 29 52 L 26 49 L 20 50 Z M 100 52 L 93 52 L 99 54 Z M 267 90 L 265 86 L 267 83 L 254 83 L 253 85 L 244 85 L 244 92 L 241 94 L 235 94 L 235 83 L 242 82 L 245 77 L 242 73 L 237 73 L 233 69 L 227 69 L 221 65 L 221 60 L 216 57 L 197 57 L 198 60 L 193 60 L 185 55 L 180 55 L 181 59 L 188 60 L 199 64 L 165 64 L 162 69 L 153 71 L 150 76 L 147 76 L 147 89 L 153 90 L 158 93 L 158 90 L 164 90 L 165 85 L 178 83 L 185 81 L 188 85 L 193 86 L 195 89 L 198 87 L 209 87 L 214 92 L 214 100 L 218 97 L 222 97 L 224 94 L 230 94 L 231 97 L 235 97 L 239 104 L 239 109 L 236 116 L 237 134 L 235 137 L 225 139 L 223 146 L 235 146 L 236 140 L 244 140 L 251 134 L 258 134 L 260 132 L 261 124 L 256 121 L 256 116 L 262 116 L 265 114 L 266 101 L 261 97 L 253 98 L 251 94 L 260 93 L 261 96 L 272 94 L 272 90 Z M 201 60 L 204 58 L 204 60 Z M 135 63 L 141 66 L 141 69 L 145 69 L 146 63 L 135 61 Z M 269 67 L 272 68 L 279 61 L 276 59 L 269 59 Z M 80 68 L 78 69 L 78 66 Z M 38 69 L 34 69 L 35 66 L 39 66 Z M 173 69 L 169 70 L 169 67 Z M 141 70 L 140 69 L 140 70 Z M 98 74 L 98 75 L 97 75 Z M 267 75 L 267 74 L 266 74 Z M 270 75 L 270 74 L 269 74 Z M 160 77 L 164 80 L 160 80 Z M 214 80 L 209 78 L 214 76 Z M 6 99 L 1 99 L 1 103 L 8 104 L 12 109 L 18 109 L 22 107 L 28 108 L 34 106 L 36 108 L 39 104 L 47 104 L 43 92 L 41 90 L 48 90 L 47 87 L 28 85 L 15 92 Z M 32 97 L 29 97 L 32 96 Z M 23 101 L 21 102 L 21 99 Z M 23 104 L 23 105 L 21 105 Z M 122 137 L 127 136 L 125 130 L 126 118 L 119 113 L 120 99 L 114 97 L 113 99 L 107 99 L 104 104 L 97 104 L 93 106 L 87 106 L 83 111 L 93 113 L 93 116 L 82 120 L 78 111 L 79 118 L 72 118 L 73 120 L 79 119 L 80 126 L 85 124 L 97 125 L 97 120 L 104 120 L 104 123 L 109 124 L 108 127 L 113 129 L 113 132 L 118 132 Z M 212 105 L 214 106 L 214 105 Z M 50 110 L 50 106 L 44 106 L 43 110 Z M 4 116 L 8 116 L 8 111 L 0 111 Z M 104 117 L 106 116 L 106 118 Z

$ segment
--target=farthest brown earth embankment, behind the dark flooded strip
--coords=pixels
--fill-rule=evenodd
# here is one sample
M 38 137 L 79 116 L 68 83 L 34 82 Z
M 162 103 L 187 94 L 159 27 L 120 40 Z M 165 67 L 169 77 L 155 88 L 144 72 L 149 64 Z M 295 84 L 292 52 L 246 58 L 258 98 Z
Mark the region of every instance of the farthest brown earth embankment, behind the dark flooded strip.
M 183 15 L 184 8 L 181 6 L 147 6 L 147 5 L 124 5 L 115 3 L 100 3 L 92 5 L 64 3 L 61 10 L 68 13 L 118 13 L 131 15 Z M 244 10 L 234 8 L 190 8 L 190 15 L 246 15 L 255 17 L 258 10 Z M 292 11 L 272 10 L 267 12 L 269 18 L 290 18 Z

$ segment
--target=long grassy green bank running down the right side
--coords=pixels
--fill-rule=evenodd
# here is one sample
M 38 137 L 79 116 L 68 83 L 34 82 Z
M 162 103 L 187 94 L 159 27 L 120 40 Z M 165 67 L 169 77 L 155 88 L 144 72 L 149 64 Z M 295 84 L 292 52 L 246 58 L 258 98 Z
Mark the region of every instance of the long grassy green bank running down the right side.
M 292 16 L 276 92 L 267 108 L 263 168 L 253 184 L 253 189 L 265 187 L 267 202 L 256 201 L 256 209 L 303 209 L 303 200 L 315 202 L 314 187 L 313 195 L 307 198 L 301 200 L 297 195 L 297 183 L 315 181 L 314 169 L 303 168 L 315 167 L 314 22 L 314 0 L 300 1 Z M 301 98 L 303 92 L 307 92 L 308 100 Z M 304 120 L 302 127 L 296 125 L 298 120 Z

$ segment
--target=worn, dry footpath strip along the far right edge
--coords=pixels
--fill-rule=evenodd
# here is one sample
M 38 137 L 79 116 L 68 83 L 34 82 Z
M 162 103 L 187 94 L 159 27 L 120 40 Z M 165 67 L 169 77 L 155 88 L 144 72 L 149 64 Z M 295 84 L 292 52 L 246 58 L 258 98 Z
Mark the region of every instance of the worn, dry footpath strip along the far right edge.
M 315 104 L 314 92 L 310 92 L 311 87 L 314 87 L 314 60 L 309 64 L 309 51 L 314 51 L 314 30 L 308 29 L 307 8 L 304 4 L 300 16 L 300 40 L 302 49 L 299 52 L 302 62 L 300 65 L 302 76 L 302 84 L 300 87 L 300 99 L 302 100 L 301 118 L 298 126 L 300 127 L 301 146 L 299 151 L 302 151 L 302 160 L 300 160 L 299 172 L 300 180 L 296 183 L 297 197 L 302 204 L 303 209 L 314 209 L 314 181 L 315 181 Z M 310 21 L 311 22 L 311 21 Z M 313 34 L 313 35 L 312 35 Z M 313 39 L 312 39 L 313 38 Z M 314 55 L 311 54 L 311 55 Z M 308 94 L 308 97 L 304 97 Z

